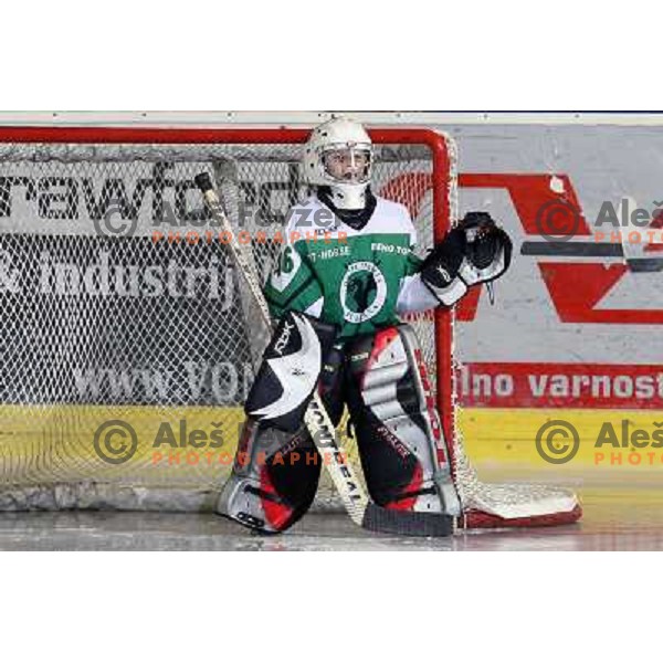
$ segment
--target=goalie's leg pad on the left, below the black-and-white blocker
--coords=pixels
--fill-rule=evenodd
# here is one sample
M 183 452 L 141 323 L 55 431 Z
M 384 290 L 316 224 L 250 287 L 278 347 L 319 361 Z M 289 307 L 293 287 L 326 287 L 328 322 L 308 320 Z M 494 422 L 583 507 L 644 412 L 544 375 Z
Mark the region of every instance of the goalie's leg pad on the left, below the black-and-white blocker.
M 319 392 L 334 424 L 343 412 L 341 369 L 343 355 L 330 351 Z M 290 433 L 249 418 L 217 512 L 264 534 L 283 532 L 308 511 L 320 470 L 320 455 L 301 421 Z

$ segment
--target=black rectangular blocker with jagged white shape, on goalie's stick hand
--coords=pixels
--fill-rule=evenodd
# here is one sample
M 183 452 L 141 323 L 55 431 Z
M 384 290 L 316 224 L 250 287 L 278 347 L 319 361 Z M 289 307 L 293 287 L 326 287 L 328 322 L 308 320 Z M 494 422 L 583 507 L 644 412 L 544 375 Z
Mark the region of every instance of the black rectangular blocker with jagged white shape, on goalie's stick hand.
M 248 417 L 295 432 L 311 401 L 337 329 L 288 311 L 278 322 L 244 404 Z

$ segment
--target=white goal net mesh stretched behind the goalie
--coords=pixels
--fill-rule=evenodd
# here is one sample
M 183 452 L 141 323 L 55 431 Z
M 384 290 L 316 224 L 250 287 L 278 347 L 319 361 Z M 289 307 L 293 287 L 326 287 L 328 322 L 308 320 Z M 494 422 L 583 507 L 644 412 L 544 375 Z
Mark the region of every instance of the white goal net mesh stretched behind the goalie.
M 2 146 L 0 507 L 213 504 L 267 332 L 193 177 L 215 178 L 264 280 L 307 193 L 299 160 L 294 145 Z M 377 149 L 373 188 L 414 212 L 421 251 L 432 206 L 410 178 L 430 175 L 424 148 Z M 413 324 L 434 371 L 432 319 Z M 337 505 L 326 475 L 317 505 Z

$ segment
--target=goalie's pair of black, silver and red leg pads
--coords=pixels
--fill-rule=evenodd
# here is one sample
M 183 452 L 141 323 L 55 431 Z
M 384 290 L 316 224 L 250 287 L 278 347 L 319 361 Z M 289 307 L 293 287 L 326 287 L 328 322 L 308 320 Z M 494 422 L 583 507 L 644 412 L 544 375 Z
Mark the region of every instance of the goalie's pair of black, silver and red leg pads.
M 347 404 L 367 488 L 378 505 L 449 511 L 446 449 L 408 325 L 335 346 L 318 390 L 337 427 Z M 328 461 L 304 425 L 293 435 L 249 419 L 218 511 L 262 532 L 282 532 L 311 506 Z

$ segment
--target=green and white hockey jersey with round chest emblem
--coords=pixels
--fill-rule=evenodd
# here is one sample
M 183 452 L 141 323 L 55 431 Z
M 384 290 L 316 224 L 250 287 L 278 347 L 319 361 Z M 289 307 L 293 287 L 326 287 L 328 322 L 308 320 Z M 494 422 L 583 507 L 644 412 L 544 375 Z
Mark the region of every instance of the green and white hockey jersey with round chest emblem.
M 417 231 L 404 206 L 378 197 L 361 230 L 335 218 L 316 197 L 287 218 L 285 243 L 265 284 L 274 317 L 299 311 L 349 338 L 439 304 L 419 277 Z

